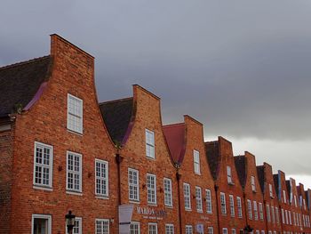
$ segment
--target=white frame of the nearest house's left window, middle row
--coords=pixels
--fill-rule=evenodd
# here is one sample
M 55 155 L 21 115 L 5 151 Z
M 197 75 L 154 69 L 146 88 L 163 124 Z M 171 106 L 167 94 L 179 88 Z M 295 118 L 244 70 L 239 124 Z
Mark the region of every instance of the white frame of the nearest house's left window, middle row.
M 36 149 L 37 148 L 41 148 L 43 149 L 42 152 L 42 161 L 44 161 L 44 149 L 49 149 L 50 150 L 50 164 L 49 165 L 44 165 L 43 163 L 39 164 L 36 163 Z M 36 166 L 41 167 L 41 183 L 36 182 Z M 48 184 L 44 184 L 43 183 L 43 169 L 44 168 L 48 168 L 49 169 L 49 183 Z M 34 186 L 38 186 L 38 187 L 45 187 L 45 188 L 50 188 L 52 189 L 52 182 L 53 182 L 53 147 L 52 145 L 47 145 L 44 143 L 41 143 L 39 141 L 35 141 L 35 149 L 34 149 L 34 173 L 33 173 L 33 183 Z

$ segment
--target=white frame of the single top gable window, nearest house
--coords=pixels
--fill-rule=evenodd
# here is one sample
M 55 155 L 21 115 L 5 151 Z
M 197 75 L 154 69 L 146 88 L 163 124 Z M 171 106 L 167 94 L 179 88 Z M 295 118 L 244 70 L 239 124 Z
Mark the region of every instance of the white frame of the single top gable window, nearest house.
M 74 101 L 80 102 L 78 108 L 81 109 L 81 115 L 77 115 L 76 113 L 70 113 L 69 111 L 69 100 L 72 98 Z M 77 118 L 79 121 L 77 122 L 79 129 L 75 129 L 75 127 L 71 127 L 69 116 L 72 116 L 74 118 Z M 84 132 L 84 101 L 82 99 L 79 99 L 78 97 L 68 93 L 67 97 L 67 129 L 70 131 L 73 131 L 75 133 L 83 133 Z

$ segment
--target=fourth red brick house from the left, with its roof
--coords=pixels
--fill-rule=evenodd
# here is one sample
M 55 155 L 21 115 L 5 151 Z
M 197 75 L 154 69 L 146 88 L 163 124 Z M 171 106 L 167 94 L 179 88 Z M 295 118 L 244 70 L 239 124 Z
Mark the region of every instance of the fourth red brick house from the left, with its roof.
M 218 205 L 219 233 L 239 233 L 245 228 L 243 190 L 235 170 L 235 159 L 230 141 L 205 143 L 206 155 L 215 182 Z

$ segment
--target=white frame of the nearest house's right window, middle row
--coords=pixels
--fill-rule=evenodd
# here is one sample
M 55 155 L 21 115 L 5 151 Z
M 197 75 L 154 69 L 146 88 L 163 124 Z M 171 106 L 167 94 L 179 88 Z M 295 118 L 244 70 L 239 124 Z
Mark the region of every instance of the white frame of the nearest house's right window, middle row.
M 105 166 L 106 172 L 105 172 L 104 176 L 101 175 L 101 170 L 100 170 L 100 175 L 98 175 L 97 164 L 100 164 L 100 168 L 102 165 Z M 100 182 L 100 184 L 98 182 Z M 106 184 L 106 192 L 102 191 L 102 185 L 103 184 Z M 98 190 L 97 190 L 98 185 L 100 186 L 100 192 L 98 192 Z M 103 197 L 109 196 L 109 165 L 108 165 L 108 161 L 101 160 L 98 158 L 95 158 L 95 194 L 97 196 L 103 196 Z

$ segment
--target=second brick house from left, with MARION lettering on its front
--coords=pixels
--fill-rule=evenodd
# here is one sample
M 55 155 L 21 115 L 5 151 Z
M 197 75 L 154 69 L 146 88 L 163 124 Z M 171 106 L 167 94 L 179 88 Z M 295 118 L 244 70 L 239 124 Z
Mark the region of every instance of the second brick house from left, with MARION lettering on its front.
M 133 97 L 100 103 L 119 148 L 120 205 L 132 205 L 132 233 L 179 233 L 179 199 L 160 99 L 140 85 Z

